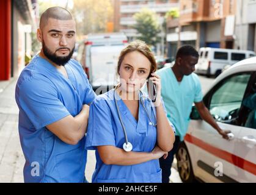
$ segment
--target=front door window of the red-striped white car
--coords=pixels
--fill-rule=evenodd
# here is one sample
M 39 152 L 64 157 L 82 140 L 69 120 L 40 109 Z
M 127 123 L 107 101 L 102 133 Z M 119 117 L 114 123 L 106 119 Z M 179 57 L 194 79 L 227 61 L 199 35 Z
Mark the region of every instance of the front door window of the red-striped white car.
M 210 113 L 216 121 L 229 123 L 238 117 L 250 76 L 250 73 L 244 73 L 229 77 L 214 91 L 210 102 Z

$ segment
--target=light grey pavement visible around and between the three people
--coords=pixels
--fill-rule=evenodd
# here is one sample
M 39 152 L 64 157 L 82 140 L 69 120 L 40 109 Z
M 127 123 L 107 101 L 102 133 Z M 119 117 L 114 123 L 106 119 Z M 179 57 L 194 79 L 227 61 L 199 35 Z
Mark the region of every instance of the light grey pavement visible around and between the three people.
M 213 79 L 200 76 L 203 92 L 210 87 Z M 16 79 L 9 82 L 0 82 L 0 183 L 24 182 L 23 166 L 24 156 L 21 151 L 20 138 L 18 135 L 18 107 L 15 102 Z M 178 172 L 172 168 L 171 182 L 181 182 Z M 95 168 L 95 155 L 88 152 L 86 177 L 92 180 Z

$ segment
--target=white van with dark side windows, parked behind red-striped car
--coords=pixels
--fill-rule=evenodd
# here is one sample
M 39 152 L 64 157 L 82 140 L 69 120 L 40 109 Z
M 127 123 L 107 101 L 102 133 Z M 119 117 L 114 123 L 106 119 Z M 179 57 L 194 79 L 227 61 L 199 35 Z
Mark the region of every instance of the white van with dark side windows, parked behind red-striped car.
M 255 55 L 255 52 L 247 50 L 200 48 L 195 73 L 217 77 L 221 74 L 224 66 L 233 65 L 240 60 L 254 57 Z

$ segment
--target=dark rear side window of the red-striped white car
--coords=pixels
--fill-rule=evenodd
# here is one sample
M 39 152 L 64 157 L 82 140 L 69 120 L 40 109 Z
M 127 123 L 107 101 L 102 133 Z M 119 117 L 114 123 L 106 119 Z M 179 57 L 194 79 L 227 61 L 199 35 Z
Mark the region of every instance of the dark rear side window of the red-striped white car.
M 243 100 L 243 122 L 241 126 L 256 129 L 256 78 Z

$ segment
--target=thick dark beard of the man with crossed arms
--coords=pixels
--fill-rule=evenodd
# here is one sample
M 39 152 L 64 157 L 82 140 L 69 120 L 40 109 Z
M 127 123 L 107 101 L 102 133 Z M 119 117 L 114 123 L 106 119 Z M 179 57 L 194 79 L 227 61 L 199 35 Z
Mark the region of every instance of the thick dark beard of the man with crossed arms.
M 59 48 L 59 49 L 68 49 L 70 51 L 70 53 L 67 55 L 67 56 L 57 56 L 56 55 L 56 52 L 59 50 L 57 49 L 54 53 L 51 52 L 47 46 L 45 45 L 45 42 L 43 41 L 43 54 L 45 54 L 45 56 L 51 60 L 51 62 L 53 63 L 56 63 L 56 65 L 59 65 L 59 66 L 65 66 L 65 64 L 71 59 L 72 55 L 73 55 L 73 52 L 74 52 L 74 49 L 75 49 L 75 46 L 74 48 L 70 51 L 69 48 Z

